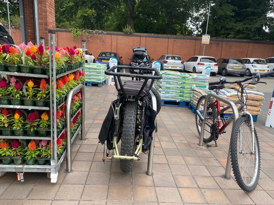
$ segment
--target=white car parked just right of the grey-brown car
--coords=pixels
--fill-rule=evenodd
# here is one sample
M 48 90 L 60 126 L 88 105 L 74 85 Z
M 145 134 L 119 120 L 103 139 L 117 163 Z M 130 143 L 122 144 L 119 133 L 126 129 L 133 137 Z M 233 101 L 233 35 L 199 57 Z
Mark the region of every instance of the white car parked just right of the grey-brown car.
M 268 72 L 269 66 L 264 59 L 261 58 L 242 58 L 242 62 L 246 67 L 245 74 L 247 76 L 255 75 L 260 72 Z

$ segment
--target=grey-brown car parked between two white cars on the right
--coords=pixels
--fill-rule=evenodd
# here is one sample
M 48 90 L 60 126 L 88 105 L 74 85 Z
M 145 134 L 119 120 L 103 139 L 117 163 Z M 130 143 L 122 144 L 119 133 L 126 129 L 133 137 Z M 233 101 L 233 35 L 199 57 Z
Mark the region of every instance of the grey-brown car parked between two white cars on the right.
M 237 58 L 219 58 L 218 72 L 227 76 L 228 74 L 239 74 L 241 77 L 245 75 L 245 65 L 241 59 Z

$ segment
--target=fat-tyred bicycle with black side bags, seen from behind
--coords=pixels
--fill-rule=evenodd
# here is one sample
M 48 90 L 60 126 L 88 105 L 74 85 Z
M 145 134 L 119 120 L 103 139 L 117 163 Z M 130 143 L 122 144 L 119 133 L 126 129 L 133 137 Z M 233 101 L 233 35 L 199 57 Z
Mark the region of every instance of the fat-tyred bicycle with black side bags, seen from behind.
M 115 72 L 115 69 L 122 68 L 138 69 L 139 72 Z M 150 74 L 143 74 L 145 71 Z M 120 159 L 121 170 L 130 172 L 133 161 L 139 160 L 141 152 L 146 153 L 151 145 L 156 115 L 161 109 L 161 97 L 153 88 L 153 82 L 162 76 L 154 68 L 130 66 L 115 66 L 106 70 L 105 74 L 114 76 L 118 95 L 117 100 L 111 103 L 98 138 L 101 144 L 106 141 L 108 150 L 113 150 L 110 157 L 107 152 L 107 159 Z M 121 77 L 131 80 L 123 83 L 125 78 L 122 80 Z M 121 152 L 117 146 L 120 139 Z

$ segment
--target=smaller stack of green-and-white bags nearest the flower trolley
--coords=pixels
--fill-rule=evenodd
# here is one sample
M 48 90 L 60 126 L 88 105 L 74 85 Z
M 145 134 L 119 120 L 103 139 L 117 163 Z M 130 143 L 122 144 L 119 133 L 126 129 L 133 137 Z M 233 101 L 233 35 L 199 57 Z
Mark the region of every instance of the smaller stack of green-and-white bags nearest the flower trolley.
M 106 80 L 106 65 L 86 63 L 85 80 L 91 83 L 102 83 Z

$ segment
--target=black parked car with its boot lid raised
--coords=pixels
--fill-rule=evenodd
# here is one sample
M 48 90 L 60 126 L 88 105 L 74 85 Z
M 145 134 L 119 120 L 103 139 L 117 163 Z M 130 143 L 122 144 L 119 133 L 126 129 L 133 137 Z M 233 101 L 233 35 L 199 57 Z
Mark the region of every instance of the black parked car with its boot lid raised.
M 133 47 L 133 55 L 129 59 L 131 60 L 130 66 L 134 67 L 137 67 L 144 59 L 146 60 L 147 67 L 152 67 L 151 61 L 154 60 L 147 54 L 145 47 Z

